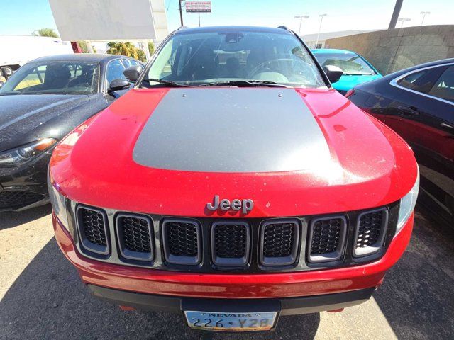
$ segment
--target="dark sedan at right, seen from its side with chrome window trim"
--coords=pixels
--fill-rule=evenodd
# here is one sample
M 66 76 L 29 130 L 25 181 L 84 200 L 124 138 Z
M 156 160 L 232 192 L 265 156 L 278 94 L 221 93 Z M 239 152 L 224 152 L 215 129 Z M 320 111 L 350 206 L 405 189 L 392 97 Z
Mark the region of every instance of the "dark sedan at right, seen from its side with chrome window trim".
M 389 74 L 347 96 L 411 145 L 421 171 L 419 202 L 454 225 L 454 59 Z

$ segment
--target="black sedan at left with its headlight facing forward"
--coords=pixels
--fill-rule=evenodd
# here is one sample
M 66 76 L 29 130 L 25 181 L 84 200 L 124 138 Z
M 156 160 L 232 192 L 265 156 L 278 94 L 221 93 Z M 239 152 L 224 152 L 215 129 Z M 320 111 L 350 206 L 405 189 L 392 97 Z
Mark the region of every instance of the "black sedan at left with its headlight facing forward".
M 23 65 L 0 88 L 0 211 L 48 202 L 55 144 L 129 88 L 120 55 L 57 55 Z

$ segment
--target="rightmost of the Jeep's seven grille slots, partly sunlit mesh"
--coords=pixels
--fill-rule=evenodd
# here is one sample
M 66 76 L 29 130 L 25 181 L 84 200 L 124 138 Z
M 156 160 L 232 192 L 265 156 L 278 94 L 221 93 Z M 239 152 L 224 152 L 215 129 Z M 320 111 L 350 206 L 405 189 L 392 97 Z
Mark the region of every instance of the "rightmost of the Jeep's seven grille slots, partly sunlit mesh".
M 388 212 L 386 208 L 362 212 L 358 215 L 355 234 L 355 256 L 375 253 L 383 243 L 387 227 Z

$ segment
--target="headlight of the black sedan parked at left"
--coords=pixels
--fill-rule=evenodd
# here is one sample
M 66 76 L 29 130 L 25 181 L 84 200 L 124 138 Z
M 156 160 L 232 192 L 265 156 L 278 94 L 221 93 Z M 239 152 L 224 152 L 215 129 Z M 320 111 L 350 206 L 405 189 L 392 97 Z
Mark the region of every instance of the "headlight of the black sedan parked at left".
M 43 138 L 35 142 L 16 147 L 0 153 L 0 166 L 17 166 L 24 164 L 31 159 L 45 152 L 57 142 L 54 138 Z

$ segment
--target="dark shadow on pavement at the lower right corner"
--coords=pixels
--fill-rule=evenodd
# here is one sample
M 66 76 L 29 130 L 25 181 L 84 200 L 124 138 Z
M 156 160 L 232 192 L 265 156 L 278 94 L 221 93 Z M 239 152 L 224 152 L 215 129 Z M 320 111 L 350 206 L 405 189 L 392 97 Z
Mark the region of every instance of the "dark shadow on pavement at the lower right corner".
M 417 213 L 409 247 L 374 297 L 398 339 L 453 339 L 454 229 Z

